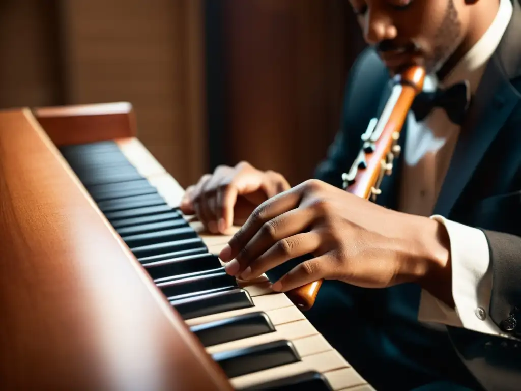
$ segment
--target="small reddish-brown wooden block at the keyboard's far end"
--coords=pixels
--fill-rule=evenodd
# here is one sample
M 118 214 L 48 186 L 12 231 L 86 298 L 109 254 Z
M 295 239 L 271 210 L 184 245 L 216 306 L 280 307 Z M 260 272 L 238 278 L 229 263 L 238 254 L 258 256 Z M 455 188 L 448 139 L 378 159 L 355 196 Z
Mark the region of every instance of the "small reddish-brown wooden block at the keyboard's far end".
M 38 107 L 33 114 L 57 146 L 137 135 L 134 110 L 127 102 Z

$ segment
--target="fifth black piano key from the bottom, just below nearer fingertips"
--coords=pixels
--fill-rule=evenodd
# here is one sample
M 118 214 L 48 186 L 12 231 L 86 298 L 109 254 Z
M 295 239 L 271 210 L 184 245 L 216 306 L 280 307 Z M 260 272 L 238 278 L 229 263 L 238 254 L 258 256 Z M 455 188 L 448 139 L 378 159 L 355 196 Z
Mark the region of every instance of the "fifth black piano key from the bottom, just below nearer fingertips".
M 217 273 L 205 274 L 193 278 L 181 278 L 156 285 L 168 298 L 218 288 L 237 287 L 235 277 L 226 274 L 224 268 L 221 270 L 222 271 Z

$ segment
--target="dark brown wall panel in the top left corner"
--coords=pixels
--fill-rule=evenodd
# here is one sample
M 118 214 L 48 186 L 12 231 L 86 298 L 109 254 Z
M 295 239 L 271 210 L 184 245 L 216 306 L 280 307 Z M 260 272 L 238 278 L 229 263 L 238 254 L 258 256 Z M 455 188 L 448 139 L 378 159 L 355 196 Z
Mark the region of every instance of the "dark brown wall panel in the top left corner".
M 0 1 L 0 107 L 62 100 L 56 2 Z

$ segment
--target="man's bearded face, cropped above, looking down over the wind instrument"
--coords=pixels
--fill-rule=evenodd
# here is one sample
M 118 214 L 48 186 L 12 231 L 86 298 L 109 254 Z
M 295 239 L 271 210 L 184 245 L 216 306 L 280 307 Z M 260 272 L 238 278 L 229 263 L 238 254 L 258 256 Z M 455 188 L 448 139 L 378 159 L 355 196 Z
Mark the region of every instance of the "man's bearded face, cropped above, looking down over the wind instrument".
M 350 0 L 365 41 L 391 73 L 407 65 L 438 71 L 468 25 L 464 0 Z

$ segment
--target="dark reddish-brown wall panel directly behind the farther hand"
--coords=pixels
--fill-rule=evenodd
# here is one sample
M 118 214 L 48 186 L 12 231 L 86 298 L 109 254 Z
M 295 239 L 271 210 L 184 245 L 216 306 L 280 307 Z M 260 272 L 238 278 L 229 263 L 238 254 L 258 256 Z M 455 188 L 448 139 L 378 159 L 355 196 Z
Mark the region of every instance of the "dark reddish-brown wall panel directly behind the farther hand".
M 309 178 L 336 133 L 363 44 L 343 0 L 224 0 L 226 163 Z

